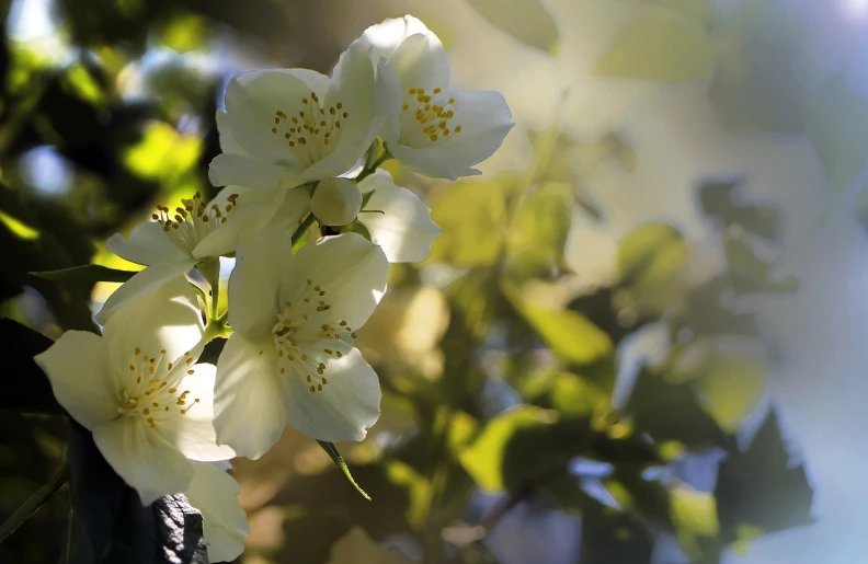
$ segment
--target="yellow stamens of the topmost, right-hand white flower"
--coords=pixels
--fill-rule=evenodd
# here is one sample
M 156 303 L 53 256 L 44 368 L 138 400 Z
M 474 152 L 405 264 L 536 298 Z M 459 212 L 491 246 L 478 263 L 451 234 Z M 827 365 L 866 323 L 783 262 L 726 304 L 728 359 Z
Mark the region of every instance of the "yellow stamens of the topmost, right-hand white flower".
M 454 97 L 448 97 L 441 88 L 427 93 L 422 88 L 407 91 L 401 105 L 400 145 L 431 147 L 445 141 L 450 135 L 461 133 L 461 126 L 450 123 L 455 117 Z

